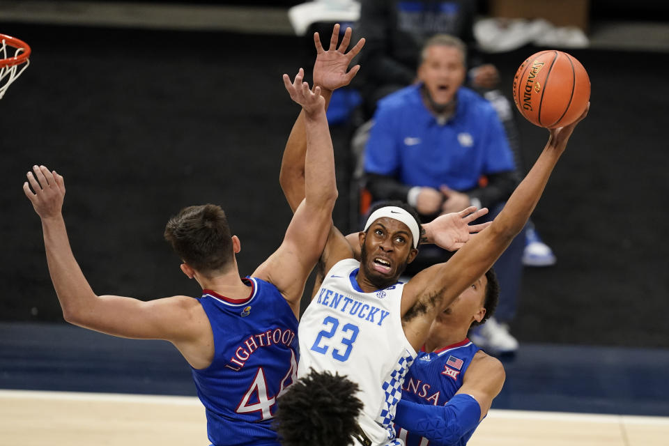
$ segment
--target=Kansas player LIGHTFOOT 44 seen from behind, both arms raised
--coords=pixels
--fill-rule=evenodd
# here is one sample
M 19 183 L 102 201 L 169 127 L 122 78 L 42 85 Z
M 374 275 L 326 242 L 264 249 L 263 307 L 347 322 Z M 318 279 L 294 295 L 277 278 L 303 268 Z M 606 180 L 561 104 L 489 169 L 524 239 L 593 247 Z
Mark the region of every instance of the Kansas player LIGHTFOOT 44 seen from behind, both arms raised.
M 360 47 L 337 56 L 350 61 Z M 337 75 L 353 77 L 357 68 L 351 71 L 347 74 L 344 67 Z M 309 139 L 306 194 L 277 251 L 241 278 L 236 263 L 240 240 L 219 206 L 190 206 L 167 223 L 165 238 L 183 261 L 184 274 L 202 287 L 201 298 L 176 295 L 143 302 L 96 295 L 70 249 L 61 213 L 63 176 L 36 165 L 23 185 L 42 220 L 49 272 L 66 321 L 119 337 L 174 344 L 192 367 L 215 446 L 279 445 L 272 417 L 277 397 L 297 373 L 300 296 L 325 246 L 337 198 L 325 100 L 302 77 L 301 69 L 292 83 L 284 75 L 284 84 L 302 106 Z

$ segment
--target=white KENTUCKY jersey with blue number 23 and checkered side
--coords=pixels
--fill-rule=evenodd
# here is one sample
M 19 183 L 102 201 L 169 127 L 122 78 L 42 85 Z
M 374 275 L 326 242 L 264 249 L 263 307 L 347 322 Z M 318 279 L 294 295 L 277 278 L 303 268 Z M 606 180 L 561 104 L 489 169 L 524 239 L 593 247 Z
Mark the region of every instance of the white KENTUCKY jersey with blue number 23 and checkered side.
M 355 259 L 337 262 L 302 315 L 298 377 L 312 368 L 348 376 L 359 386 L 364 408 L 358 424 L 372 444 L 403 445 L 393 418 L 416 356 L 402 328 L 404 284 L 364 293 L 356 282 L 359 269 Z

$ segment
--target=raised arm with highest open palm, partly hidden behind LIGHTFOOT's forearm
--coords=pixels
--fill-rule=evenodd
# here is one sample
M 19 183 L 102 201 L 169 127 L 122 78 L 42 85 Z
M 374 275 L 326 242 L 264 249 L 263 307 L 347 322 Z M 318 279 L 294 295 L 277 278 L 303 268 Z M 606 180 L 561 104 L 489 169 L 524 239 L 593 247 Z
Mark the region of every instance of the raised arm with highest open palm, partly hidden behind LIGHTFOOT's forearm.
M 360 70 L 356 65 L 348 70 L 351 60 L 360 52 L 364 39 L 360 39 L 350 51 L 346 52 L 351 43 L 351 28 L 347 28 L 341 43 L 339 40 L 339 24 L 335 24 L 330 36 L 330 47 L 327 50 L 321 45 L 321 38 L 314 33 L 316 47 L 316 62 L 314 63 L 314 86 L 321 87 L 321 96 L 325 99 L 325 109 L 328 109 L 332 91 L 348 85 Z M 305 114 L 300 112 L 293 125 L 291 134 L 286 142 L 284 156 L 279 173 L 284 195 L 293 212 L 298 208 L 305 197 L 305 153 L 307 152 L 307 133 L 305 131 Z

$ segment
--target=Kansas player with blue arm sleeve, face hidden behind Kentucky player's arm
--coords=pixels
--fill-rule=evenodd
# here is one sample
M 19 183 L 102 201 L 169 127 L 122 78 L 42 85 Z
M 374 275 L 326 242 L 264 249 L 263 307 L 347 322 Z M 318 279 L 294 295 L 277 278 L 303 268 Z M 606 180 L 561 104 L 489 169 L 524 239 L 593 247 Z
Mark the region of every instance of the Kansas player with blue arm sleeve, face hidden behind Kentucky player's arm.
M 504 367 L 469 339 L 493 315 L 499 284 L 493 270 L 440 313 L 406 374 L 397 404 L 397 437 L 406 446 L 463 446 L 502 390 Z

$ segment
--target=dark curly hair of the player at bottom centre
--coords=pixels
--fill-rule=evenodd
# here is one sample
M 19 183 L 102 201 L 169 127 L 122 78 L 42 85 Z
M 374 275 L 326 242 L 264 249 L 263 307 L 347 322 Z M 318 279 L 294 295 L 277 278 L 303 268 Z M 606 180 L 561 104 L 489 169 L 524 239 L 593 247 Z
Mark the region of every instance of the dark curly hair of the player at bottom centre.
M 357 384 L 329 371 L 309 371 L 277 400 L 274 427 L 283 446 L 347 446 L 362 401 Z

